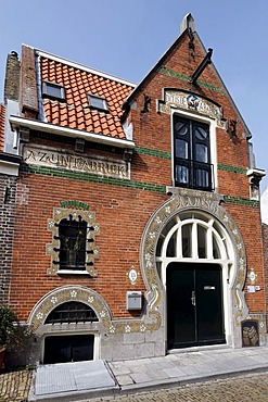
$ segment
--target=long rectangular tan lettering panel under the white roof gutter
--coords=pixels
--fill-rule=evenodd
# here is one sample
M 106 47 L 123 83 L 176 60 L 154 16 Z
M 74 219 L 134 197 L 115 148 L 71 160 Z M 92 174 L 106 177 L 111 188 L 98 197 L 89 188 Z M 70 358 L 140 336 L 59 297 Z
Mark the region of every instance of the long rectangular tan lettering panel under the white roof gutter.
M 23 160 L 29 165 L 65 168 L 101 176 L 130 178 L 128 163 L 104 158 L 86 158 L 34 147 L 25 147 Z

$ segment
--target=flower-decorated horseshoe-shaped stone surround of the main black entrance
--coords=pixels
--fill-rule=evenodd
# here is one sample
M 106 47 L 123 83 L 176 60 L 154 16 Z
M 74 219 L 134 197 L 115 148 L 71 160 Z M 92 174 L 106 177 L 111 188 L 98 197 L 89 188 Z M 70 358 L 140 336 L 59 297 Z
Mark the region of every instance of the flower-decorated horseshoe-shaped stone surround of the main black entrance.
M 151 216 L 141 246 L 141 267 L 148 289 L 149 307 L 158 310 L 164 322 L 165 288 L 156 268 L 156 246 L 163 228 L 176 214 L 183 211 L 206 212 L 225 227 L 234 250 L 233 280 L 229 290 L 229 321 L 231 326 L 229 343 L 239 347 L 241 346 L 241 321 L 247 316 L 248 309 L 243 292 L 246 278 L 246 253 L 237 224 L 221 205 L 224 199 L 219 194 L 179 188 L 170 188 L 168 192 L 171 194 L 170 199 Z

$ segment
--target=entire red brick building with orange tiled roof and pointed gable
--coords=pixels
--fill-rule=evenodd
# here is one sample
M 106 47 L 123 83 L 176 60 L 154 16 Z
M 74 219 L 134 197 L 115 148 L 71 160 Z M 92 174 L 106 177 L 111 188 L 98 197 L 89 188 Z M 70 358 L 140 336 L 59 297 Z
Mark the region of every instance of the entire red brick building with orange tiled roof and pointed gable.
M 9 303 L 30 359 L 264 344 L 264 172 L 192 16 L 137 86 L 28 46 L 17 68 Z

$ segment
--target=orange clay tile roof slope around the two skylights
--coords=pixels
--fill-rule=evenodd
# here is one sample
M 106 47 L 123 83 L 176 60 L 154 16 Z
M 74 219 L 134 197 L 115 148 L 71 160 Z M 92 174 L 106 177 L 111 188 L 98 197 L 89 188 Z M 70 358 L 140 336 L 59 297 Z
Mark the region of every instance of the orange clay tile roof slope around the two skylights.
M 73 64 L 73 63 L 72 63 Z M 48 123 L 102 134 L 116 138 L 126 138 L 120 124 L 122 105 L 133 90 L 132 85 L 113 79 L 102 73 L 77 68 L 65 61 L 40 55 L 41 80 L 64 86 L 66 102 L 43 99 L 43 110 Z M 109 113 L 92 110 L 88 93 L 104 97 Z

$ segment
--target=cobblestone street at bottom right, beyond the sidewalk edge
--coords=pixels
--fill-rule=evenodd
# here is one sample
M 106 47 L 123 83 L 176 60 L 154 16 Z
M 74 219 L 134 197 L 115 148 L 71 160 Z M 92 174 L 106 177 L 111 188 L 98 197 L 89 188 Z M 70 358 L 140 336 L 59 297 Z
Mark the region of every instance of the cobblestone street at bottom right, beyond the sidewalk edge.
M 89 402 L 267 402 L 268 373 L 191 384 L 178 388 L 120 397 L 90 399 Z

